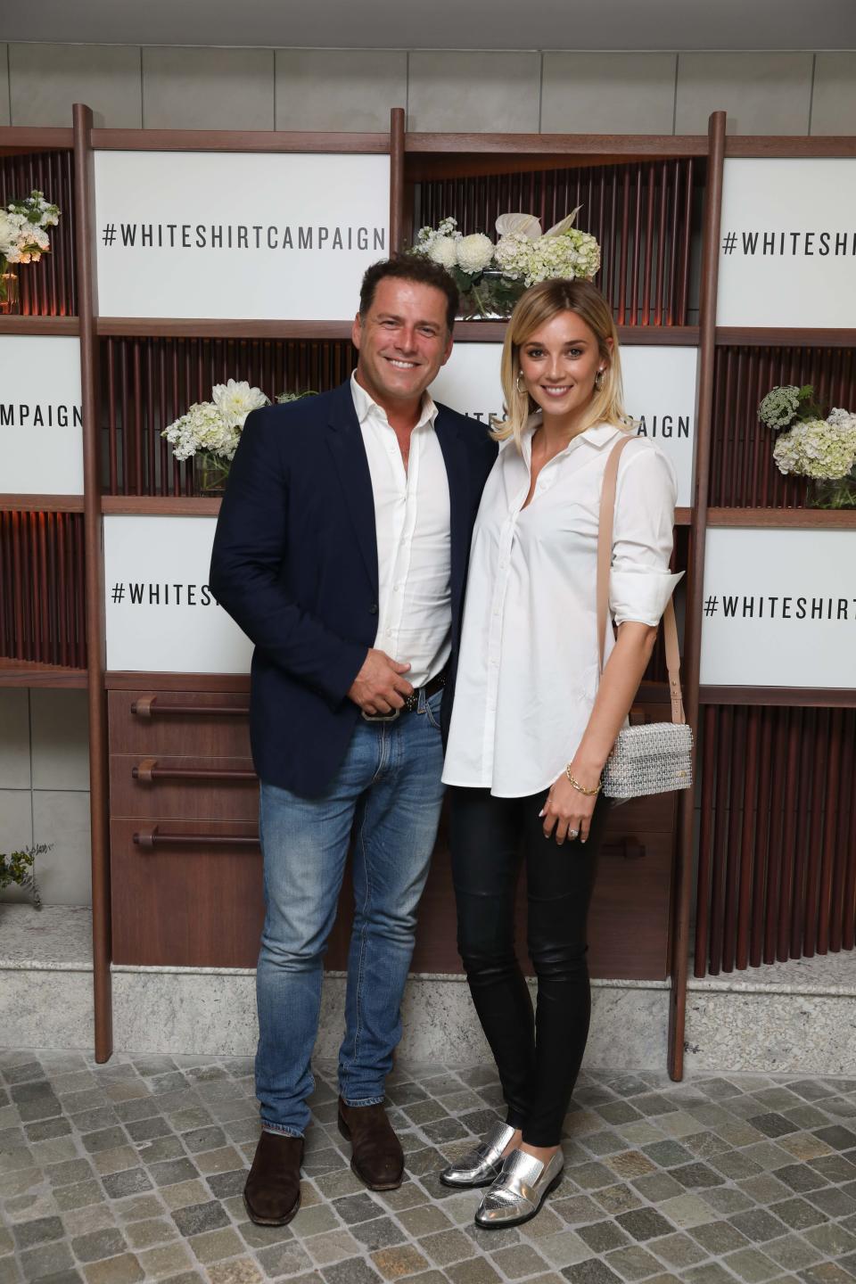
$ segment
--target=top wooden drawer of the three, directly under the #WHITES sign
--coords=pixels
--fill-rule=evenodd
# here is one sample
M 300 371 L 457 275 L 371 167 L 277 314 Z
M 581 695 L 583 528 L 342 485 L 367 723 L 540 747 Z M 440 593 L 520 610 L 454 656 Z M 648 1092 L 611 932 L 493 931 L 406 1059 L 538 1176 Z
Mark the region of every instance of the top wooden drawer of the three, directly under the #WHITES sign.
M 110 691 L 112 754 L 249 758 L 249 696 L 214 691 Z

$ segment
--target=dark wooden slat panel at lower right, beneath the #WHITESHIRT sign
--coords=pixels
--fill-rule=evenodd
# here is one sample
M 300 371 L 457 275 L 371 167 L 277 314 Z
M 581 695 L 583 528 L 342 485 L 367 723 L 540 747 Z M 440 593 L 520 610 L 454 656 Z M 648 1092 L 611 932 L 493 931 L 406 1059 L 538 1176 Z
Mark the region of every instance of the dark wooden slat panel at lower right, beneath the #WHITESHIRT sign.
M 705 709 L 696 975 L 853 948 L 856 709 Z

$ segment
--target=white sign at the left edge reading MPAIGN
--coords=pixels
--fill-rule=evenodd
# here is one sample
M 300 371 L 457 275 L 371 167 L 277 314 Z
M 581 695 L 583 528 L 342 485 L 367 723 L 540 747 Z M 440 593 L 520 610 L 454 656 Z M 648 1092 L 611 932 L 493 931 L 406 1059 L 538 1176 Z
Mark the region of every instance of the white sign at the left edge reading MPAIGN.
M 83 493 L 77 338 L 0 335 L 0 490 Z

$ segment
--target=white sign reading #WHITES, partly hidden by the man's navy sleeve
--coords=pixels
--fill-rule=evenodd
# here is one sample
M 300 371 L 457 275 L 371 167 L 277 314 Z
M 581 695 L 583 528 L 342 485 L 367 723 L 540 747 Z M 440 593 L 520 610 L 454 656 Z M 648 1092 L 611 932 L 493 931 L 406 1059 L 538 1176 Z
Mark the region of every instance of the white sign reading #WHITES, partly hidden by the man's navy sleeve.
M 208 587 L 216 517 L 104 519 L 108 669 L 249 673 L 253 643 Z

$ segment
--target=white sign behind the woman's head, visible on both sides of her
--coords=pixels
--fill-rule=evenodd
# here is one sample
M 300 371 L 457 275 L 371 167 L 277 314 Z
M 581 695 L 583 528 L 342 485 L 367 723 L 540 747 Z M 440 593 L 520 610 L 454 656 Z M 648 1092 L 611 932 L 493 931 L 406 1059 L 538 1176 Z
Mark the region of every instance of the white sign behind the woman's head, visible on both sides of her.
M 462 415 L 488 424 L 502 417 L 499 360 L 502 344 L 458 343 L 431 384 L 431 395 Z M 678 505 L 693 502 L 696 443 L 696 348 L 626 344 L 621 349 L 628 413 L 672 461 Z

